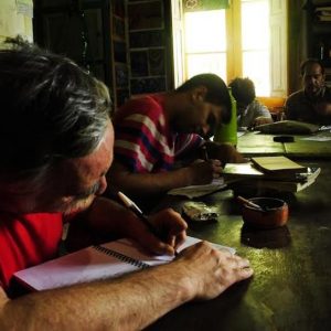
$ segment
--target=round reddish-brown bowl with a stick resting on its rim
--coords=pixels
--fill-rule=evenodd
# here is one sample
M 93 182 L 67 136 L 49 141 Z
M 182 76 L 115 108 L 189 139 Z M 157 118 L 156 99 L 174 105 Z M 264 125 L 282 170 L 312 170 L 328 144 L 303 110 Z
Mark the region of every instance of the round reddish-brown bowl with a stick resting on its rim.
M 243 204 L 243 220 L 247 225 L 259 228 L 282 226 L 288 220 L 288 204 L 275 197 L 252 197 L 248 201 L 260 209 Z

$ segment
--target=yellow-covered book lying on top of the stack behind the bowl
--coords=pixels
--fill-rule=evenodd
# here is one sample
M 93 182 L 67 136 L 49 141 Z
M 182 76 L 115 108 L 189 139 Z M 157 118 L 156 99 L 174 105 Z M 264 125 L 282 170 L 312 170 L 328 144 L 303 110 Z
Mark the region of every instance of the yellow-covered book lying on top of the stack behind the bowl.
M 252 162 L 258 170 L 264 173 L 273 174 L 293 174 L 307 171 L 307 167 L 301 166 L 287 157 L 258 157 L 252 158 Z

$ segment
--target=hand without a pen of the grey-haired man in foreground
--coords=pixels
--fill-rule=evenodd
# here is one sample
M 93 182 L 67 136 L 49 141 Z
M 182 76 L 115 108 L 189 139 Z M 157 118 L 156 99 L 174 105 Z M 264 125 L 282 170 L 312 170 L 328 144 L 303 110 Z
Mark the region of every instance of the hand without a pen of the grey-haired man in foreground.
M 247 259 L 217 250 L 206 242 L 184 249 L 175 264 L 188 275 L 191 299 L 197 300 L 213 299 L 253 275 Z

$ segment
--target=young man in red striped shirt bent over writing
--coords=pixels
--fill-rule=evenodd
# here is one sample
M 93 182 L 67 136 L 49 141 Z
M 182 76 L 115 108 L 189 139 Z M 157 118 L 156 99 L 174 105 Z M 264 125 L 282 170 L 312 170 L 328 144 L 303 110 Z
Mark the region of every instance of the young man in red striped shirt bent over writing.
M 229 119 L 227 87 L 213 74 L 196 75 L 173 92 L 129 100 L 115 113 L 111 183 L 140 203 L 171 189 L 210 183 L 226 162 L 245 161 L 234 147 L 202 138 Z M 201 160 L 202 147 L 209 160 Z M 174 169 L 188 159 L 192 162 Z

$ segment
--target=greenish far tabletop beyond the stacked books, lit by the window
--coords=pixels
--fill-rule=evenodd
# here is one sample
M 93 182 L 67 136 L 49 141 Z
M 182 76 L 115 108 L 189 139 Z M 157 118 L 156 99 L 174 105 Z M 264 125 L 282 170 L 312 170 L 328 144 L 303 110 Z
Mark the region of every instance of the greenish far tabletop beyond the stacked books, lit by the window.
M 263 135 L 258 131 L 247 132 L 238 138 L 237 149 L 246 157 L 285 154 L 291 159 L 331 159 L 331 140 L 305 140 L 309 137 L 331 138 L 331 132 L 321 131 L 311 136 L 292 136 L 293 142 L 275 142 L 275 136 Z

